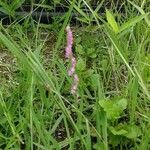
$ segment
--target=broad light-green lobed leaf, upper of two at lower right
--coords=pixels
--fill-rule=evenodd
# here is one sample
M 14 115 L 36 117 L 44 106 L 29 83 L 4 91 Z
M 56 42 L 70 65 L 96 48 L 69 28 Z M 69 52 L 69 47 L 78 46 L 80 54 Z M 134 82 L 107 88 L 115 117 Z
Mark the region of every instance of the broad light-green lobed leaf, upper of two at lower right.
M 127 100 L 100 100 L 100 106 L 104 109 L 107 119 L 115 120 L 121 117 L 123 110 L 127 108 Z

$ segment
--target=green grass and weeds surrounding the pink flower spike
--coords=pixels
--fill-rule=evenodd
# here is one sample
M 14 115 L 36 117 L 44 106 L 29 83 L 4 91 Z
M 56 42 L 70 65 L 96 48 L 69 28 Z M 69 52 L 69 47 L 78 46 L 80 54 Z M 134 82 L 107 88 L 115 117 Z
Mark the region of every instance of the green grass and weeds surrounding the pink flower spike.
M 21 25 L 0 25 L 0 149 L 149 150 L 147 3 L 124 2 L 121 14 L 112 2 L 101 16 L 105 1 L 93 10 L 74 0 L 53 24 L 29 15 Z M 64 57 L 71 12 L 81 14 L 81 26 L 71 26 L 78 97 Z

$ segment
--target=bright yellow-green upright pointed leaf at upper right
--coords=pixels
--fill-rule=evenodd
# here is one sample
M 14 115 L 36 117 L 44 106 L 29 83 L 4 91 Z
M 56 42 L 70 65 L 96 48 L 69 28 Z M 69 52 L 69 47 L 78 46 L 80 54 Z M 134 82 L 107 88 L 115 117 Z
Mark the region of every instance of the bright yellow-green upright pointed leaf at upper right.
M 110 13 L 110 11 L 108 11 L 106 9 L 106 18 L 107 18 L 107 21 L 108 23 L 110 24 L 110 26 L 112 27 L 113 31 L 115 33 L 118 33 L 119 32 L 119 27 L 118 27 L 118 24 L 114 18 L 114 16 Z

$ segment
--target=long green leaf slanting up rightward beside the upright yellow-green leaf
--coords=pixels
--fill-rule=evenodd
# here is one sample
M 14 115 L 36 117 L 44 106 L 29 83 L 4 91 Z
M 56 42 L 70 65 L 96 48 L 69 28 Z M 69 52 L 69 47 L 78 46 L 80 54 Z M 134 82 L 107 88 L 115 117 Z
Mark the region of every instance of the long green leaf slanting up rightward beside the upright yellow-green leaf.
M 148 14 L 143 14 L 141 16 L 136 16 L 129 21 L 125 22 L 123 25 L 121 25 L 119 32 L 122 32 L 123 30 L 126 30 L 130 28 L 131 26 L 134 26 L 136 23 L 140 22 L 143 18 L 145 18 Z

